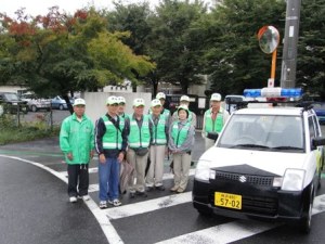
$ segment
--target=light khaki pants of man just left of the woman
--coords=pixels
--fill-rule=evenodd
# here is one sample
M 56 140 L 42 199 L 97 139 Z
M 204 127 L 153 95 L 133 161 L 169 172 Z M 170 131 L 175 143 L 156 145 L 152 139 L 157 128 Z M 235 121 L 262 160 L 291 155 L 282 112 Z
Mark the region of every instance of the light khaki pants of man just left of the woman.
M 151 146 L 151 166 L 146 175 L 146 187 L 162 185 L 165 150 L 166 145 Z

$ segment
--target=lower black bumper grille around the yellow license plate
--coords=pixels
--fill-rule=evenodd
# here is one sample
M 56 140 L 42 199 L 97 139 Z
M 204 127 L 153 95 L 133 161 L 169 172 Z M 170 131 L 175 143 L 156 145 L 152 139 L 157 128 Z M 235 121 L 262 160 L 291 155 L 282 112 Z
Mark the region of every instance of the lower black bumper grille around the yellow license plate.
M 210 203 L 212 206 L 214 206 L 214 192 L 210 193 Z M 277 213 L 277 208 L 278 208 L 278 204 L 276 198 L 242 195 L 240 210 L 231 209 L 231 208 L 224 208 L 224 209 L 242 211 L 246 214 L 275 216 Z

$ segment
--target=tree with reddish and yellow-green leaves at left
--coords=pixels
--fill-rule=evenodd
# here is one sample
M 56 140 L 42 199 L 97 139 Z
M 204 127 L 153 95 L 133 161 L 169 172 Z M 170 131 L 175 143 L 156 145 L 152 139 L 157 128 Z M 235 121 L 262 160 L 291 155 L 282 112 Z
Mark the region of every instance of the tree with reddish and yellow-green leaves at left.
M 70 111 L 68 93 L 96 90 L 123 78 L 136 82 L 133 73 L 144 75 L 154 68 L 146 56 L 135 55 L 119 40 L 126 34 L 109 34 L 106 20 L 93 9 L 69 16 L 52 8 L 47 16 L 31 18 L 22 11 L 17 20 L 1 15 L 1 23 L 6 40 L 1 44 L 9 50 L 0 53 L 6 62 L 1 72 L 38 94 L 61 94 Z

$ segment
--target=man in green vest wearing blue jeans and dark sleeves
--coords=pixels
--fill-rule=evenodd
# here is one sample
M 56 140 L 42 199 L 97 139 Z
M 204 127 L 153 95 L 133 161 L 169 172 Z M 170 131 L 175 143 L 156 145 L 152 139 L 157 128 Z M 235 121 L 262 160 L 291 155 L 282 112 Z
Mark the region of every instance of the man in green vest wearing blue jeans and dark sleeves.
M 100 208 L 121 205 L 119 201 L 119 171 L 127 149 L 123 118 L 117 115 L 118 99 L 106 100 L 107 113 L 95 125 L 95 149 L 99 154 Z

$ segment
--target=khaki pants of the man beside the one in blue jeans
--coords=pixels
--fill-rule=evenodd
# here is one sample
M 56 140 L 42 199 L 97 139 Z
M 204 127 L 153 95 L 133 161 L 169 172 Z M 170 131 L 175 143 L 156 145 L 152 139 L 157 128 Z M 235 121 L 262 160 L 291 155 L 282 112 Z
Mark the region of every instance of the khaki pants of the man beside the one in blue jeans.
M 144 192 L 144 175 L 145 175 L 145 167 L 147 164 L 147 156 L 146 153 L 144 156 L 138 156 L 134 150 L 129 149 L 127 152 L 127 160 L 134 167 L 134 171 L 130 177 L 129 181 L 129 191 L 134 193 L 135 191 Z M 136 182 L 134 179 L 136 178 Z

